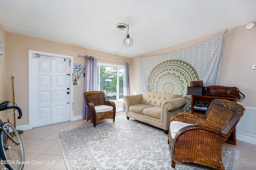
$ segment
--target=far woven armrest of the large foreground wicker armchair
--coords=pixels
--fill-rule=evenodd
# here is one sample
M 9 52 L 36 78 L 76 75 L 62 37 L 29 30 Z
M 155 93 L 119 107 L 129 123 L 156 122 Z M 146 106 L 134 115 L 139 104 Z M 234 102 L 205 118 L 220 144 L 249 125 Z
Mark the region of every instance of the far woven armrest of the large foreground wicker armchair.
M 199 117 L 197 115 L 194 115 L 192 113 L 186 113 L 186 112 L 180 112 L 172 117 L 171 121 L 182 121 L 184 123 L 190 123 L 190 124 L 196 124 L 200 126 L 209 126 L 206 123 L 206 120 L 202 117 Z

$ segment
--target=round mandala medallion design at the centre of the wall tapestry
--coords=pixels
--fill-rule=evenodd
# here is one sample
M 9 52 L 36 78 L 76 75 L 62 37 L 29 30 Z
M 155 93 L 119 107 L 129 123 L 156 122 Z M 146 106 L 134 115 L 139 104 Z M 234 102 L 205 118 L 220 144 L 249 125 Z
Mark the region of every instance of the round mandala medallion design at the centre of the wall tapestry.
M 187 100 L 184 111 L 190 111 L 191 95 L 187 95 L 187 87 L 191 80 L 199 80 L 199 77 L 190 64 L 180 60 L 168 60 L 151 71 L 148 76 L 148 90 L 178 94 Z

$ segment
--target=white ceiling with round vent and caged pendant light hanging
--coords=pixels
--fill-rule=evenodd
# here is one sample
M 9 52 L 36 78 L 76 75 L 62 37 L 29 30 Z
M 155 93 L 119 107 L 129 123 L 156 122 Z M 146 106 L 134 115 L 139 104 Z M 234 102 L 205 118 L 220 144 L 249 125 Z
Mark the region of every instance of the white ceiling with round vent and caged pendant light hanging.
M 256 0 L 0 0 L 5 31 L 124 57 L 253 21 Z M 132 47 L 118 23 L 129 24 Z

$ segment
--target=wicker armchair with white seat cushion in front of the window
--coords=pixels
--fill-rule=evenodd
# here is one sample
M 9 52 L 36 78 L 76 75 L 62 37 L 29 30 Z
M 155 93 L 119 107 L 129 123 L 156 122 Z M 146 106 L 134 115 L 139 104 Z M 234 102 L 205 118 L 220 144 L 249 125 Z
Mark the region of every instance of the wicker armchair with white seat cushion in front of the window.
M 84 99 L 88 107 L 87 121 L 90 119 L 94 127 L 96 127 L 96 123 L 105 119 L 115 121 L 116 105 L 112 101 L 106 101 L 104 92 L 85 92 Z

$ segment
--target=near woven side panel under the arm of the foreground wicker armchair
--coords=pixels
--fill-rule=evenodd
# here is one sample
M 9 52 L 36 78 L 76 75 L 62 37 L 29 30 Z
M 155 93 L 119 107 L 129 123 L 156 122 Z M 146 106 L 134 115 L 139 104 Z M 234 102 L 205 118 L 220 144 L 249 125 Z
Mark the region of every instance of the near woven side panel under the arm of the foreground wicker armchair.
M 178 161 L 192 158 L 192 162 L 204 165 L 207 165 L 206 162 L 210 159 L 213 160 L 209 162 L 214 162 L 216 155 L 221 161 L 221 147 L 227 139 L 228 137 L 214 129 L 190 125 L 180 129 L 176 134 L 172 144 L 172 155 L 175 155 L 175 160 Z

